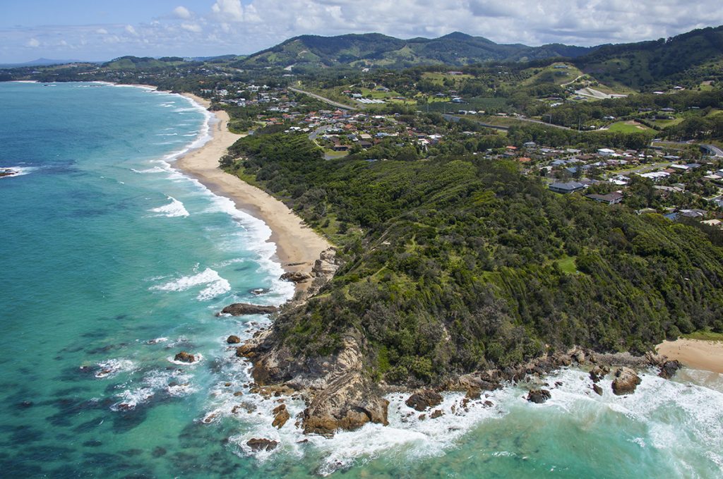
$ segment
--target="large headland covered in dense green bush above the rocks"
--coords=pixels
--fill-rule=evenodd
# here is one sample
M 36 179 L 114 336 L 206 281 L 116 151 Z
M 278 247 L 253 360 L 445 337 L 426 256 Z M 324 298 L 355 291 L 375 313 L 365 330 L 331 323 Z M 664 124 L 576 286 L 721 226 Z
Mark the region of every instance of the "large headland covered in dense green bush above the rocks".
M 723 330 L 723 251 L 700 230 L 552 194 L 506 161 L 295 157 L 304 142 L 241 139 L 232 166 L 343 249 L 333 282 L 275 324 L 302 357 L 351 333 L 372 377 L 430 383 L 547 348 L 642 352 Z

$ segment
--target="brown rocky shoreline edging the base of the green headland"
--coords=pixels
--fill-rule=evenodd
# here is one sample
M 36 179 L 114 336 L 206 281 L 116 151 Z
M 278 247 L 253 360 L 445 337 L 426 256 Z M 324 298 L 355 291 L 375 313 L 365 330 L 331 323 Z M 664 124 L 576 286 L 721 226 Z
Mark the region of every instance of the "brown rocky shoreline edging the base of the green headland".
M 311 282 L 309 287 L 297 293 L 283 308 L 298 308 L 317 294 L 331 280 L 341 266 L 334 249 L 322 252 L 312 271 L 287 275 L 284 279 L 294 282 Z M 234 304 L 224 308 L 223 314 L 265 314 L 257 308 L 264 306 Z M 246 312 L 253 311 L 253 312 Z M 271 312 L 270 310 L 268 312 Z M 283 316 L 281 319 L 283 321 Z M 229 337 L 234 344 L 236 337 Z M 475 371 L 450 378 L 445 384 L 434 388 L 411 389 L 398 384 L 375 384 L 366 374 L 366 358 L 362 347 L 364 338 L 348 334 L 342 338 L 339 353 L 320 358 L 299 358 L 285 345 L 272 325 L 243 345 L 236 347 L 236 356 L 252 363 L 252 392 L 265 396 L 294 394 L 306 402 L 306 409 L 296 420 L 296 426 L 304 433 L 333 436 L 338 430 L 354 430 L 367 423 L 388 425 L 388 401 L 384 395 L 390 392 L 409 394 L 409 407 L 439 417 L 441 411 L 432 410 L 442 401 L 440 392 L 466 392 L 466 399 L 479 400 L 484 392 L 500 389 L 505 384 L 527 381 L 530 391 L 527 400 L 542 403 L 550 392 L 545 377 L 560 368 L 576 366 L 589 370 L 589 389 L 604 394 L 597 384 L 612 374 L 612 393 L 633 394 L 641 379 L 636 370 L 659 368 L 659 376 L 669 379 L 681 367 L 678 361 L 668 361 L 665 356 L 647 353 L 636 356 L 630 353 L 596 353 L 584 348 L 571 348 L 565 353 L 544 355 L 516 367 Z M 490 404 L 491 406 L 491 404 Z M 273 426 L 281 428 L 288 421 L 286 408 L 274 413 Z

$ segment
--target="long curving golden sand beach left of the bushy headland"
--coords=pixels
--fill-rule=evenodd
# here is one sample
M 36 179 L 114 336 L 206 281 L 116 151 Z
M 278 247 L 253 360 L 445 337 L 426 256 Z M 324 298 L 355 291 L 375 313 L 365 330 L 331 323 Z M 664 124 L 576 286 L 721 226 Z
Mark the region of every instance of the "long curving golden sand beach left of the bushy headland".
M 183 95 L 206 108 L 210 105 L 208 100 L 196 95 Z M 211 126 L 212 139 L 198 150 L 179 158 L 176 167 L 196 178 L 215 194 L 232 199 L 239 210 L 266 223 L 272 231 L 268 241 L 276 244 L 276 256 L 283 269 L 288 272 L 309 271 L 321 252 L 331 246 L 330 243 L 305 225 L 278 199 L 218 168 L 218 160 L 241 135 L 228 131 L 228 113 L 213 113 L 218 121 Z M 307 284 L 296 285 L 297 291 L 305 288 Z

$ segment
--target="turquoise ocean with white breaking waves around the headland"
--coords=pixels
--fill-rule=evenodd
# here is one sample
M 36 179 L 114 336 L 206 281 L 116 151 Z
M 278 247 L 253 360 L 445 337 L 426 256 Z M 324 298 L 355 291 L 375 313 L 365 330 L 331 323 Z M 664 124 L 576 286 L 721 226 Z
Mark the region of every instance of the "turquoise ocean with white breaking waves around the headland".
M 723 378 L 702 371 L 598 397 L 570 369 L 544 405 L 446 394 L 420 420 L 390 394 L 386 428 L 271 428 L 279 398 L 250 394 L 225 344 L 266 319 L 215 313 L 293 288 L 263 223 L 172 168 L 208 121 L 140 88 L 0 84 L 0 168 L 22 172 L 0 178 L 1 477 L 721 477 Z M 281 445 L 251 454 L 252 437 Z

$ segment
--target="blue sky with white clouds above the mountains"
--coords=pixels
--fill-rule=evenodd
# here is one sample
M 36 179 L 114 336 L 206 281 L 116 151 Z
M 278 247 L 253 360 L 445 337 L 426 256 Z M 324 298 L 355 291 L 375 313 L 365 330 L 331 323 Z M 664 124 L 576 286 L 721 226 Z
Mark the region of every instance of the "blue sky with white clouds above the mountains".
M 253 53 L 295 35 L 455 30 L 591 46 L 723 25 L 719 0 L 2 0 L 0 63 Z

